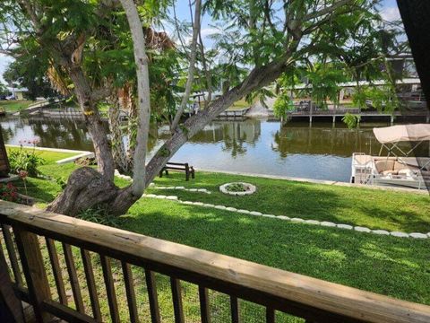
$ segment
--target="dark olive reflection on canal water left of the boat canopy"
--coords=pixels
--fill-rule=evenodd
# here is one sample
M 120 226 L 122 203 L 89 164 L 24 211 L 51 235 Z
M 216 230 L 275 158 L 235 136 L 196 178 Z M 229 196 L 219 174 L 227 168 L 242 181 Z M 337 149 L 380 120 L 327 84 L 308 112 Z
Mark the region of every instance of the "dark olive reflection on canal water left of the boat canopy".
M 282 158 L 288 153 L 350 157 L 354 152 L 377 153 L 379 144 L 371 129 L 288 126 L 273 135 L 271 149 Z

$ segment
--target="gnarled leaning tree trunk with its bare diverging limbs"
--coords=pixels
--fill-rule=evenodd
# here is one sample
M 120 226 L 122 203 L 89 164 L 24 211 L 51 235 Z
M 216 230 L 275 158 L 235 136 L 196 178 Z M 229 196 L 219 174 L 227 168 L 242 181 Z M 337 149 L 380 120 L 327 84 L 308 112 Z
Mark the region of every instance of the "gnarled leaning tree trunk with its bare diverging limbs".
M 333 1 L 331 5 L 311 13 L 306 13 L 301 7 L 288 9 L 282 53 L 272 57 L 269 63 L 256 65 L 241 83 L 225 92 L 219 99 L 211 101 L 207 109 L 188 118 L 180 127 L 174 127 L 171 137 L 146 165 L 146 144 L 150 121 L 148 57 L 146 57 L 145 53 L 142 22 L 139 20 L 133 0 L 120 0 L 120 3 L 125 9 L 130 31 L 132 32 L 137 74 L 138 132 L 137 145 L 133 156 L 133 184 L 126 188 L 117 188 L 113 183 L 114 160 L 96 107 L 98 97 L 103 95 L 103 91 L 96 92 L 91 89 L 90 83 L 82 73 L 79 59 L 76 63 L 70 63 L 70 57 L 65 57 L 63 63 L 67 66 L 67 72 L 74 83 L 74 91 L 87 121 L 94 142 L 97 161 L 99 162 L 99 171 L 90 168 L 75 170 L 70 176 L 64 192 L 53 203 L 48 205 L 48 209 L 56 213 L 76 215 L 82 210 L 101 205 L 106 207 L 110 214 L 125 214 L 130 206 L 142 196 L 143 190 L 149 186 L 150 182 L 159 173 L 159 170 L 164 167 L 183 144 L 210 123 L 213 118 L 217 117 L 219 113 L 228 109 L 236 100 L 240 100 L 251 92 L 272 83 L 288 69 L 288 66 L 306 53 L 314 50 L 315 47 L 312 43 L 302 44 L 302 47 L 299 48 L 300 41 L 305 37 L 306 32 L 313 32 L 314 28 L 317 28 L 319 24 L 329 21 L 331 14 L 350 12 L 351 9 L 345 4 L 352 4 L 354 0 Z M 200 1 L 198 3 L 200 4 Z M 195 10 L 200 11 L 202 9 L 200 5 L 195 5 Z M 297 10 L 297 12 L 294 10 Z M 197 14 L 200 16 L 200 12 L 196 13 L 195 16 Z M 194 23 L 194 26 L 196 25 L 200 27 L 200 23 Z M 198 32 L 194 31 L 194 39 L 196 39 Z M 74 48 L 73 53 L 79 46 Z M 195 46 L 193 50 L 196 50 Z M 193 69 L 191 70 L 193 71 Z M 104 96 L 105 99 L 107 94 Z

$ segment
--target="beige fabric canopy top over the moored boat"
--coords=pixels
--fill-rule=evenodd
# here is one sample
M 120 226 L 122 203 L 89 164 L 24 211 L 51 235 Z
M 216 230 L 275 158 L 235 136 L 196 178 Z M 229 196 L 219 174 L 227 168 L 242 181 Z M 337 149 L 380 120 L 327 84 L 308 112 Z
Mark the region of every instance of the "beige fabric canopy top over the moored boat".
M 401 125 L 374 128 L 374 135 L 381 144 L 430 140 L 430 124 Z

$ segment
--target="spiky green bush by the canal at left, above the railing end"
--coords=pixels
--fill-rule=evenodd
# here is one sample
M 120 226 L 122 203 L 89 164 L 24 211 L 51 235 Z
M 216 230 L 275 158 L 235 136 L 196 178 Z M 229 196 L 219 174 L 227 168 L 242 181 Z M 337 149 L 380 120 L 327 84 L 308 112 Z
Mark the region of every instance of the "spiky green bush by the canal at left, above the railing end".
M 45 163 L 45 160 L 38 156 L 34 149 L 32 151 L 24 150 L 14 150 L 9 153 L 9 163 L 11 165 L 11 170 L 13 173 L 18 174 L 20 171 L 27 171 L 30 177 L 38 177 L 40 171 L 38 167 Z

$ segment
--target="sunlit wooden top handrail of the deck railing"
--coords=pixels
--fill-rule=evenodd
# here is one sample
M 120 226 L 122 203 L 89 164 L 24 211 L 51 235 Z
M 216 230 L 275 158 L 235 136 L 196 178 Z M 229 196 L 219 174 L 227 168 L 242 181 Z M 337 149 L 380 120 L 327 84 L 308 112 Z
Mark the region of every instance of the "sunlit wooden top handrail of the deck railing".
M 430 307 L 426 305 L 29 206 L 1 201 L 0 223 L 142 266 L 172 279 L 225 292 L 233 299 L 254 301 L 267 307 L 268 318 L 271 310 L 281 310 L 318 322 L 430 322 Z M 49 304 L 45 302 L 46 307 L 52 308 Z

